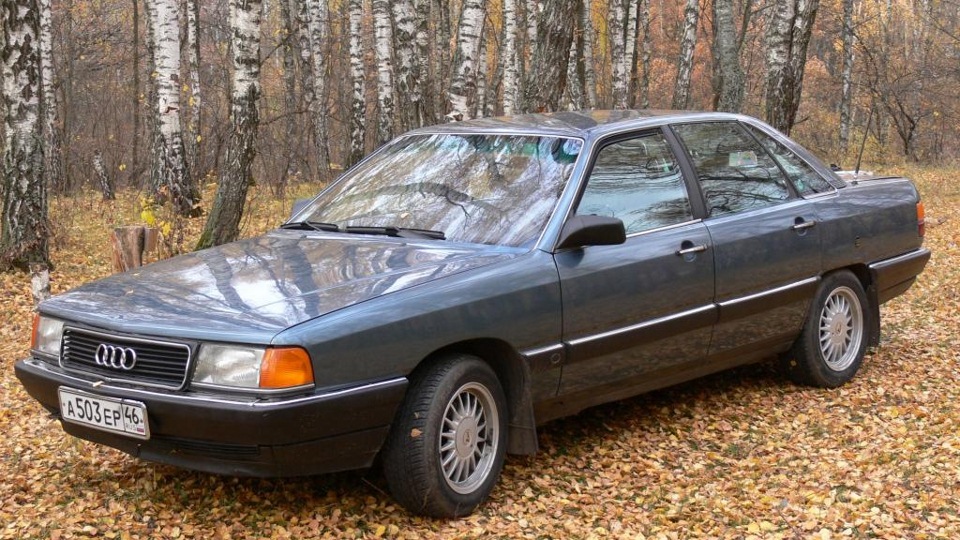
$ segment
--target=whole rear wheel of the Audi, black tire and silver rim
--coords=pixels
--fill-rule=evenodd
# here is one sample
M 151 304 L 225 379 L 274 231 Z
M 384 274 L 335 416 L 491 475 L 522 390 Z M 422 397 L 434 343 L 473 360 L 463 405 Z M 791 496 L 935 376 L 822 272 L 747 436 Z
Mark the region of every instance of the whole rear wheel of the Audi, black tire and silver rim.
M 851 272 L 827 275 L 800 337 L 783 358 L 787 375 L 799 384 L 836 388 L 856 375 L 869 341 L 871 311 L 863 285 Z

